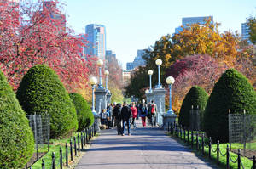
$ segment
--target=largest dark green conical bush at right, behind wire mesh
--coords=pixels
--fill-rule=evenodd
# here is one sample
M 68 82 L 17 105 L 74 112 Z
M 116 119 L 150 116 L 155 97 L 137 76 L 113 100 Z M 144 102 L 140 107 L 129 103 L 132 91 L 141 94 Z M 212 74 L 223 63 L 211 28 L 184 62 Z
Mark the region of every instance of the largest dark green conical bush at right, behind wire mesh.
M 226 70 L 213 87 L 204 115 L 204 129 L 213 141 L 229 141 L 231 113 L 256 114 L 256 93 L 247 78 L 235 69 Z

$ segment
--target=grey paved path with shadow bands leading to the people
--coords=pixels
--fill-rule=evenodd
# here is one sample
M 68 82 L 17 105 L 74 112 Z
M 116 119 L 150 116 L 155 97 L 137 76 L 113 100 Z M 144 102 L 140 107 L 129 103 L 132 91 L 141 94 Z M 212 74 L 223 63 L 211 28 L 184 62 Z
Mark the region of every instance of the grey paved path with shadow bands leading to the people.
M 131 136 L 119 136 L 115 128 L 102 131 L 76 169 L 217 168 L 166 136 L 159 127 L 141 127 L 138 121 L 137 126 Z

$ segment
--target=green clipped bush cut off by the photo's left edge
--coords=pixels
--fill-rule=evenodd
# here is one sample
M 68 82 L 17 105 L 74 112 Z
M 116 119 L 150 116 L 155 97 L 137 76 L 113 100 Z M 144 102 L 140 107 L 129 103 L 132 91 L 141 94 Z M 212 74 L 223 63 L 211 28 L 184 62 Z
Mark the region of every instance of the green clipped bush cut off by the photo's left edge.
M 34 138 L 26 113 L 0 71 L 0 168 L 22 168 L 33 154 Z

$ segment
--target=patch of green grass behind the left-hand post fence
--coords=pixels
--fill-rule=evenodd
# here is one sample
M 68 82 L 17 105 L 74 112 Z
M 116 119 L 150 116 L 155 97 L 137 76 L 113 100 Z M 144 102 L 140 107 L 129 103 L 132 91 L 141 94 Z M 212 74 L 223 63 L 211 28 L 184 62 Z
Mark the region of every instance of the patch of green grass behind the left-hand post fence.
M 72 137 L 71 137 L 73 143 L 74 143 L 73 137 L 75 136 L 77 138 L 78 134 L 80 137 L 80 132 L 73 132 Z M 96 136 L 97 136 L 97 134 L 96 134 Z M 55 168 L 56 169 L 60 168 L 60 147 L 62 149 L 63 164 L 66 164 L 66 147 L 65 147 L 66 143 L 67 143 L 67 149 L 68 149 L 68 164 L 72 164 L 71 157 L 70 157 L 70 146 L 69 146 L 71 138 L 50 139 L 49 140 L 49 152 L 47 152 L 48 151 L 47 145 L 42 147 L 41 149 L 39 149 L 38 151 L 47 152 L 47 153 L 41 159 L 39 159 L 36 163 L 34 163 L 32 165 L 32 169 L 42 169 L 42 159 L 44 159 L 45 168 L 51 168 L 53 152 L 55 153 Z M 80 147 L 80 149 L 81 149 L 81 147 Z M 88 149 L 88 146 L 85 149 Z M 75 158 L 77 158 L 77 157 L 75 157 L 74 149 L 73 149 L 73 159 L 75 159 Z

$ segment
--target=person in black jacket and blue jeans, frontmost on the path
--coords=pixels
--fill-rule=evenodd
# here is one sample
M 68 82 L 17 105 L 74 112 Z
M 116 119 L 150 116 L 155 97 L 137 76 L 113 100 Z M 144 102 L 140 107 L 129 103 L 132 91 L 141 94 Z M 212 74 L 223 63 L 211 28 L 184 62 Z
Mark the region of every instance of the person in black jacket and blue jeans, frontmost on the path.
M 131 135 L 131 128 L 130 128 L 130 119 L 131 119 L 131 108 L 124 102 L 124 105 L 121 110 L 121 118 L 123 121 L 123 132 L 122 135 L 125 136 L 125 126 L 127 124 L 128 135 Z

